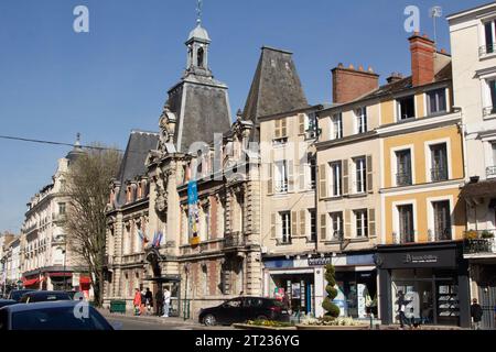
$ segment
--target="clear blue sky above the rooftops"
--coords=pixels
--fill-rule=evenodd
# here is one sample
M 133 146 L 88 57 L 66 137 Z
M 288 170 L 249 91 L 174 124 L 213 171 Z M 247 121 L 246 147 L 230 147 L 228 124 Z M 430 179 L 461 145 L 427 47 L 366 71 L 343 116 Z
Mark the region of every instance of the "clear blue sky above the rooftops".
M 488 0 L 204 0 L 209 66 L 244 108 L 262 45 L 294 53 L 310 103 L 332 101 L 331 69 L 371 66 L 381 82 L 410 74 L 406 7 L 441 6 L 439 48 L 450 51 L 444 15 Z M 76 33 L 77 6 L 89 33 Z M 166 99 L 186 65 L 184 42 L 196 0 L 0 0 L 0 135 L 125 148 L 133 129 L 158 131 Z M 235 114 L 234 114 L 235 116 Z M 19 232 L 26 204 L 51 183 L 71 147 L 0 139 L 0 232 Z

